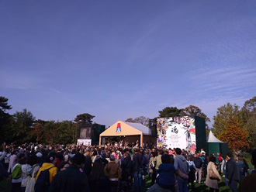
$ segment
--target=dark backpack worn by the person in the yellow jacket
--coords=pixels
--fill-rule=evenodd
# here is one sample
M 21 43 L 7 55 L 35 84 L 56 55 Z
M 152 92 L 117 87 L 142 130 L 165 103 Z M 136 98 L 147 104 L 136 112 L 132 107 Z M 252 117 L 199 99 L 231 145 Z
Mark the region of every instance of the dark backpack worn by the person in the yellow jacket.
M 43 170 L 40 172 L 39 176 L 37 177 L 36 184 L 35 184 L 35 192 L 45 192 L 48 191 L 50 187 L 50 172 L 49 170 L 54 166 L 50 167 L 47 170 Z

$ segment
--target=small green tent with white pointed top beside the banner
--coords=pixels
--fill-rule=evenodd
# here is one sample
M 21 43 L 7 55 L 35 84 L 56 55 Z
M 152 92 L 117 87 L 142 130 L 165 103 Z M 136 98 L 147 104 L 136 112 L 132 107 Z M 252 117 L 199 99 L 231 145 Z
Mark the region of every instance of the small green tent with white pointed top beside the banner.
M 216 156 L 217 153 L 221 153 L 222 156 L 226 156 L 228 152 L 227 142 L 222 142 L 213 135 L 212 131 L 209 131 L 209 135 L 207 137 L 207 143 L 209 147 L 209 154 L 214 153 Z

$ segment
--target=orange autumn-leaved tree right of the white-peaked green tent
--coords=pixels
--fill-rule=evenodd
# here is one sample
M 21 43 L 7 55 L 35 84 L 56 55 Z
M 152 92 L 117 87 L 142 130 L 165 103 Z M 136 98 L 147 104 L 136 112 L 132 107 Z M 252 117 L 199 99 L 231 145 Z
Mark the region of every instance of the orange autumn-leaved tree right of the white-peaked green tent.
M 245 149 L 249 147 L 247 143 L 248 132 L 242 129 L 242 119 L 230 115 L 229 120 L 225 124 L 225 129 L 220 135 L 220 140 L 227 142 L 228 146 L 233 151 Z

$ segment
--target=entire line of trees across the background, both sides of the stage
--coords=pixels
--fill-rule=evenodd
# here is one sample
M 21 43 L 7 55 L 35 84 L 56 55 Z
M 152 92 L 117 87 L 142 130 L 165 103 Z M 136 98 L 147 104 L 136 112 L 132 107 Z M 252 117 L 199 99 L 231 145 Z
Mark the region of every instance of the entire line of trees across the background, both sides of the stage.
M 230 149 L 251 150 L 256 148 L 256 97 L 244 102 L 244 106 L 239 108 L 236 104 L 227 103 L 217 108 L 216 115 L 213 116 L 213 133 L 223 142 L 228 142 Z M 88 113 L 77 115 L 74 121 L 43 121 L 36 119 L 27 109 L 16 111 L 9 115 L 11 105 L 8 98 L 0 97 L 0 139 L 5 142 L 16 141 L 40 142 L 47 144 L 67 144 L 75 143 L 78 139 L 78 130 L 81 123 L 92 124 L 95 116 Z M 206 119 L 206 134 L 209 133 L 210 119 L 202 110 L 194 105 L 186 108 L 166 107 L 158 111 L 158 116 L 154 118 L 168 118 L 175 116 L 199 116 Z M 140 116 L 137 118 L 127 118 L 126 122 L 138 122 L 149 125 L 149 118 Z

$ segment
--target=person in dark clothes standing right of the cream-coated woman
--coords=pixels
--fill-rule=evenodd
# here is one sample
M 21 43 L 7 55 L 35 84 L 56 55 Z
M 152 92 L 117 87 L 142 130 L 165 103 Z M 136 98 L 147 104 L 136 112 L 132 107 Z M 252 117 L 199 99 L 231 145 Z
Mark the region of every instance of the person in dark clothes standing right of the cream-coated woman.
M 233 158 L 231 152 L 227 153 L 227 163 L 226 163 L 226 174 L 228 185 L 232 192 L 237 192 L 237 182 L 239 181 L 239 172 L 237 168 L 237 162 Z

